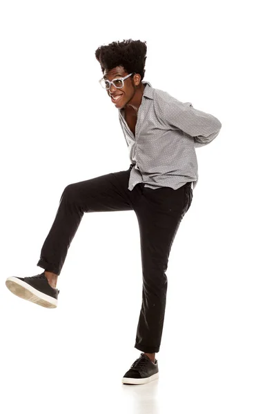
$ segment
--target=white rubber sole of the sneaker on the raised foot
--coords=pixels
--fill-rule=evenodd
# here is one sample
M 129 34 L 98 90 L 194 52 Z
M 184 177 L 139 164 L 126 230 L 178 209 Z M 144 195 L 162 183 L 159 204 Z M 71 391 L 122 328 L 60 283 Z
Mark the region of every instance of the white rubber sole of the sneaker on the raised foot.
M 44 308 L 57 308 L 57 299 L 55 297 L 50 297 L 45 295 L 45 293 L 39 292 L 39 290 L 23 282 L 23 280 L 17 279 L 17 277 L 8 277 L 6 286 L 14 295 L 22 299 L 26 299 Z

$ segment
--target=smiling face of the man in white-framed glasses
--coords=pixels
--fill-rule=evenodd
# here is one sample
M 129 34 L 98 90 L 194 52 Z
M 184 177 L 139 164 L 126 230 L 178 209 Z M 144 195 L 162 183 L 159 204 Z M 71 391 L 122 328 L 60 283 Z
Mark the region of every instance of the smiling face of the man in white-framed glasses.
M 103 72 L 103 78 L 107 79 L 108 81 L 112 81 L 113 79 L 120 77 L 125 77 L 127 75 L 129 74 L 124 70 L 123 66 L 117 66 L 109 72 L 106 70 Z M 135 95 L 135 86 L 139 84 L 139 75 L 135 75 L 135 79 L 132 78 L 133 75 L 124 80 L 123 88 L 116 88 L 111 84 L 110 89 L 106 91 L 108 92 L 109 99 L 112 100 L 112 103 L 115 104 L 117 109 L 124 108 L 126 106 L 126 103 L 130 102 L 132 97 Z M 121 96 L 118 97 L 119 95 Z M 113 99 L 112 97 L 115 97 L 117 100 Z

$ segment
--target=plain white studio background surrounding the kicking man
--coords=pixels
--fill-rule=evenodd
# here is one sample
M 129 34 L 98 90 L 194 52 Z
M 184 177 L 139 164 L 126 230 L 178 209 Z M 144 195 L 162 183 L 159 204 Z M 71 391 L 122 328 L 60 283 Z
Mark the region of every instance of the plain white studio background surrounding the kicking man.
M 1 399 L 14 413 L 274 414 L 275 19 L 269 1 L 1 1 Z M 273 32 L 274 31 L 274 32 Z M 6 288 L 41 273 L 63 189 L 127 170 L 98 46 L 139 39 L 145 81 L 221 121 L 168 263 L 159 380 L 139 357 L 133 211 L 84 215 L 46 309 Z

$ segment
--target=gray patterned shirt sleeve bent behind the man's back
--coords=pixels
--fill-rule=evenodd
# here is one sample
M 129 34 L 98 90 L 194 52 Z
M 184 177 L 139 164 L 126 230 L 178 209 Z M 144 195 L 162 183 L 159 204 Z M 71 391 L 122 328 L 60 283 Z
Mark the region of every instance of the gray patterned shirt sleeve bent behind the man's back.
M 190 102 L 173 99 L 163 106 L 163 115 L 170 126 L 179 128 L 195 140 L 195 147 L 209 144 L 221 129 L 219 119 L 193 108 Z

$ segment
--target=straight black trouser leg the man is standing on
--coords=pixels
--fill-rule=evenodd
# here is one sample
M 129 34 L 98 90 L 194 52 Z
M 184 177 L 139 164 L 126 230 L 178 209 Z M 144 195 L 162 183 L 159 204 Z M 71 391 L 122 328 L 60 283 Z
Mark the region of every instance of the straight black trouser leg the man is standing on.
M 142 305 L 135 348 L 159 352 L 164 326 L 168 280 L 166 270 L 172 242 L 193 199 L 190 184 L 143 188 L 135 213 L 139 222 L 143 271 Z

